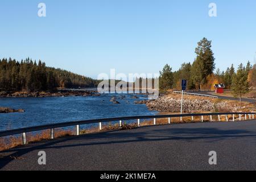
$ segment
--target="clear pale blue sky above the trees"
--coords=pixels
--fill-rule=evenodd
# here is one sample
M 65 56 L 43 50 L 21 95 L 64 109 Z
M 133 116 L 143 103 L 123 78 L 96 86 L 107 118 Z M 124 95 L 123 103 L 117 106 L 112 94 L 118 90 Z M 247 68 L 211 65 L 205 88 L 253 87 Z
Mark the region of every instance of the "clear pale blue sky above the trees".
M 38 17 L 46 3 L 47 16 Z M 217 4 L 210 18 L 208 5 Z M 250 60 L 256 52 L 256 1 L 1 0 L 0 57 L 41 59 L 97 78 L 99 73 L 158 73 L 195 59 L 212 40 L 216 66 Z

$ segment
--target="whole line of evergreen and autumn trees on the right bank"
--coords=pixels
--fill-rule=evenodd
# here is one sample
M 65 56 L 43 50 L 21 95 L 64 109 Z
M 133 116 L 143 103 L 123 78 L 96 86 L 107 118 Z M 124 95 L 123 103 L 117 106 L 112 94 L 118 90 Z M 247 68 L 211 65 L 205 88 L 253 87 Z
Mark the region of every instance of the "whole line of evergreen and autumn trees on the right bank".
M 166 64 L 160 71 L 159 85 L 161 90 L 181 89 L 181 80 L 187 80 L 187 89 L 213 89 L 214 84 L 225 84 L 226 89 L 232 89 L 237 72 L 244 72 L 248 86 L 256 87 L 256 65 L 248 61 L 244 67 L 239 65 L 237 71 L 232 64 L 226 71 L 217 69 L 214 73 L 214 54 L 211 49 L 211 41 L 203 38 L 195 49 L 196 59 L 193 63 L 183 63 L 178 71 L 172 72 L 170 65 Z M 240 74 L 241 75 L 241 74 Z M 244 78 L 243 78 L 244 79 Z

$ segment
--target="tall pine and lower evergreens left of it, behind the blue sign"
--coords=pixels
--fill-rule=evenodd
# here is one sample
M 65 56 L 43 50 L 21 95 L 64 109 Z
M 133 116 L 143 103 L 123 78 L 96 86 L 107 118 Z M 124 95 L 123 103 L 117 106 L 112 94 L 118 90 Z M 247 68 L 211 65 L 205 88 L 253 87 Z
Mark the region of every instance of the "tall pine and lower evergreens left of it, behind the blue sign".
M 195 49 L 196 59 L 191 63 L 181 65 L 179 71 L 172 72 L 170 65 L 165 65 L 160 71 L 160 89 L 180 88 L 182 79 L 188 81 L 188 89 L 202 89 L 207 83 L 207 77 L 215 69 L 214 54 L 211 49 L 211 41 L 203 38 Z

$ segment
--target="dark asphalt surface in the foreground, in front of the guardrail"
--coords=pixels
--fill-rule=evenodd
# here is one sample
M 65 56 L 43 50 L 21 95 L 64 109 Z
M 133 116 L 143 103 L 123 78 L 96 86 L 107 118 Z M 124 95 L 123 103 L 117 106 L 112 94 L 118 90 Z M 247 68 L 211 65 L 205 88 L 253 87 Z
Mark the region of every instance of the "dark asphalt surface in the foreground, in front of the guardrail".
M 46 165 L 38 152 L 46 152 Z M 217 165 L 209 165 L 210 151 Z M 256 170 L 256 121 L 81 135 L 0 152 L 1 170 Z

